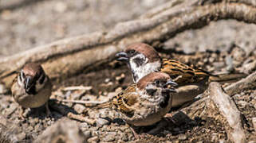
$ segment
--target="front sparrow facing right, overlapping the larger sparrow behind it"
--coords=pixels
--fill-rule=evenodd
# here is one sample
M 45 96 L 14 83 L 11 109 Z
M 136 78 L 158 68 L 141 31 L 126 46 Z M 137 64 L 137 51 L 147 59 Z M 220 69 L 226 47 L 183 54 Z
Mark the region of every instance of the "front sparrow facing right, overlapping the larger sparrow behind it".
M 171 95 L 176 92 L 175 86 L 177 83 L 166 73 L 152 72 L 109 102 L 96 106 L 96 109 L 112 108 L 129 125 L 151 126 L 171 109 Z

